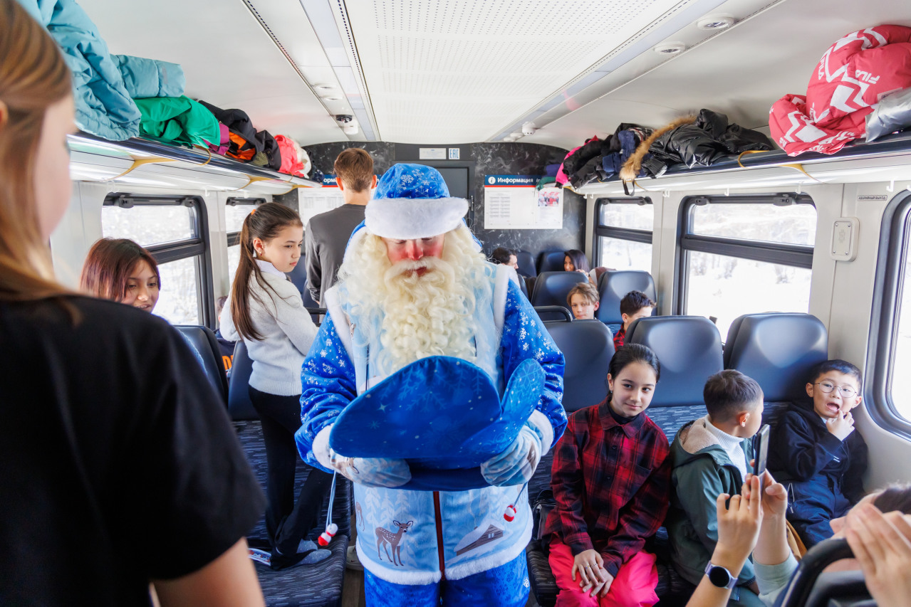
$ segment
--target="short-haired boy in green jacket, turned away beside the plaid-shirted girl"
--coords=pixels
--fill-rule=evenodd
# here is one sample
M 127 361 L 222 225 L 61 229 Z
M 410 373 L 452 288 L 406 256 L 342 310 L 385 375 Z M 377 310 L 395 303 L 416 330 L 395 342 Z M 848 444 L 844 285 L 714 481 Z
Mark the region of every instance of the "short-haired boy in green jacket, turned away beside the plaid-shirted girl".
M 702 391 L 709 414 L 677 432 L 670 445 L 670 560 L 681 577 L 698 584 L 718 542 L 721 493 L 740 494 L 752 460 L 750 438 L 763 423 L 763 389 L 740 371 L 715 373 Z M 729 607 L 763 607 L 752 561 L 746 561 Z

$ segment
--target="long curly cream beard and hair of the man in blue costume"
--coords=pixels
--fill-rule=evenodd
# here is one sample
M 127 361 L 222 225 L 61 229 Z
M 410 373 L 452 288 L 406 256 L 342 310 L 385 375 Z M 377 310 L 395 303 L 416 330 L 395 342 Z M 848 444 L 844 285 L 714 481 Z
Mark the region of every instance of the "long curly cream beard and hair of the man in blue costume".
M 445 233 L 440 258 L 422 258 L 422 276 L 402 272 L 411 262 L 389 261 L 383 238 L 353 244 L 339 268 L 352 313 L 362 328 L 379 326 L 383 349 L 372 357 L 389 374 L 428 356 L 475 358 L 475 289 L 486 280 L 486 259 L 464 225 Z

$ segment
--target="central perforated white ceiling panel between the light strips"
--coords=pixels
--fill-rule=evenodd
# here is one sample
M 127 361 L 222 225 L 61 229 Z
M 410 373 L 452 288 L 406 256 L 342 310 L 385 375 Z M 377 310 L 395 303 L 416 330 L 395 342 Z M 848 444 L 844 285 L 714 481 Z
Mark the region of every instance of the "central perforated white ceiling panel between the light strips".
M 483 141 L 697 0 L 347 0 L 388 141 Z

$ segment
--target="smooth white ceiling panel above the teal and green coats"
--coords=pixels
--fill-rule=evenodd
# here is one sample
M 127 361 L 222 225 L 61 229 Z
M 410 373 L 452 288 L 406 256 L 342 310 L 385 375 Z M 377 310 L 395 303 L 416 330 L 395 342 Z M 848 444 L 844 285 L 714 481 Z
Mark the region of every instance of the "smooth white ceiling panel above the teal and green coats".
M 271 0 L 303 65 L 321 49 L 297 0 Z M 178 63 L 187 96 L 238 107 L 259 129 L 302 145 L 347 139 L 241 0 L 79 0 L 111 53 Z M 273 20 L 273 23 L 275 21 Z M 306 40 L 303 38 L 307 37 Z M 323 59 L 324 60 L 324 59 Z

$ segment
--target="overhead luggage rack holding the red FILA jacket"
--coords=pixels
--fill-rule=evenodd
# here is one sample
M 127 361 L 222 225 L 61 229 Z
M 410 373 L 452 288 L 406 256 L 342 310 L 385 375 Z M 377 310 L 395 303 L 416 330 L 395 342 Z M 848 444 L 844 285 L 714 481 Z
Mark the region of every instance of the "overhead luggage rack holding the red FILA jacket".
M 732 156 L 711 167 L 688 168 L 674 165 L 660 177 L 640 177 L 637 194 L 691 189 L 733 189 L 749 187 L 800 187 L 824 183 L 864 183 L 911 179 L 911 131 L 883 137 L 870 143 L 848 145 L 835 154 L 807 152 L 787 156 L 782 150 Z M 627 183 L 632 192 L 632 184 Z M 626 196 L 617 179 L 579 187 L 582 195 Z

